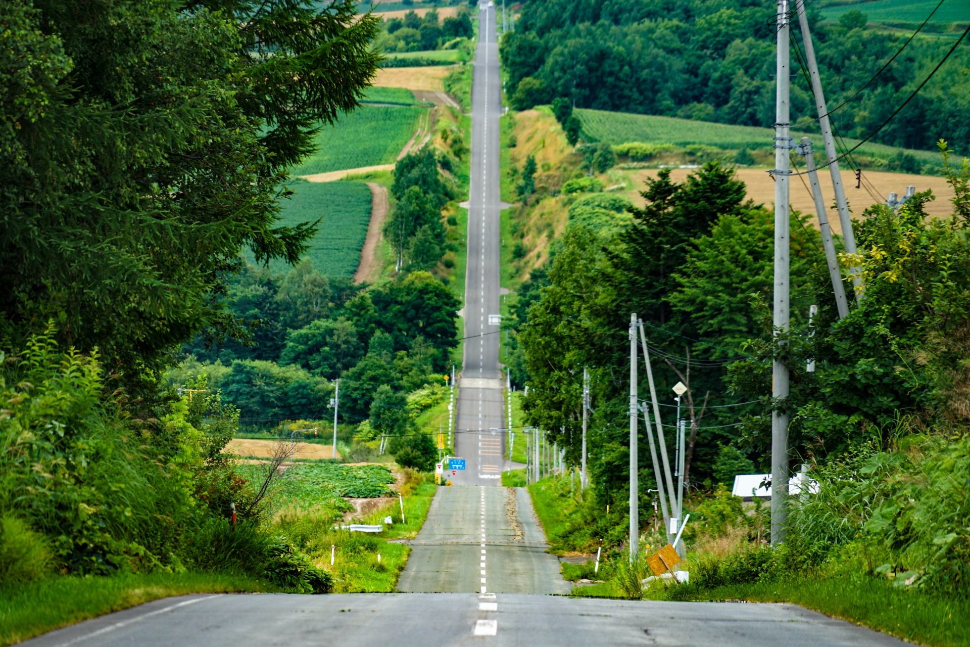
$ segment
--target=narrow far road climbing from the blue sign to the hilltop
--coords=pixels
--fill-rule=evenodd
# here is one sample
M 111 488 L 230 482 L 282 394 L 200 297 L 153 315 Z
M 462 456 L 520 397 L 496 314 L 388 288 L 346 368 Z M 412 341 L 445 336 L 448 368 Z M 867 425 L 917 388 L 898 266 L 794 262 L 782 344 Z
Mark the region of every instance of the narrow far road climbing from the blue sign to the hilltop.
M 479 13 L 471 86 L 469 257 L 465 279 L 465 357 L 455 418 L 455 455 L 466 469 L 448 475 L 458 485 L 499 485 L 505 427 L 499 371 L 500 229 L 499 117 L 501 76 L 496 10 Z

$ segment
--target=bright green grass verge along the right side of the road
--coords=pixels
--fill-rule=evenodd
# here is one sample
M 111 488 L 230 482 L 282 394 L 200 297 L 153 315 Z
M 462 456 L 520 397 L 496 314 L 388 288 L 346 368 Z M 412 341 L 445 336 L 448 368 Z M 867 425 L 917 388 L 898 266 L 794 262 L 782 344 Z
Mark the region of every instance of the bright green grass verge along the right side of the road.
M 554 478 L 543 478 L 529 486 L 535 513 L 551 545 L 550 552 L 560 554 L 573 548 L 563 542 L 563 533 L 570 513 L 577 507 L 575 497 L 561 494 L 566 490 L 563 485 Z M 627 518 L 623 514 L 611 514 L 610 522 L 625 526 Z M 709 551 L 716 550 L 713 542 L 697 541 L 695 545 L 701 550 L 694 551 L 689 546 L 687 563 L 678 566 L 692 570 L 692 579 L 702 574 L 700 565 L 710 559 Z M 624 559 L 626 556 L 615 550 L 605 551 L 598 574 L 594 575 L 591 560 L 583 565 L 564 564 L 563 576 L 573 582 L 581 578 L 605 580 L 589 586 L 577 585 L 572 591 L 574 596 L 627 598 L 628 594 L 618 581 L 619 561 Z M 695 565 L 693 569 L 692 563 Z M 644 590 L 643 597 L 677 601 L 789 602 L 921 644 L 948 647 L 970 644 L 970 625 L 965 622 L 970 617 L 970 600 L 900 588 L 881 575 L 849 572 L 838 565 L 814 575 L 782 581 L 717 587 L 704 586 L 703 581 L 681 585 L 655 582 Z

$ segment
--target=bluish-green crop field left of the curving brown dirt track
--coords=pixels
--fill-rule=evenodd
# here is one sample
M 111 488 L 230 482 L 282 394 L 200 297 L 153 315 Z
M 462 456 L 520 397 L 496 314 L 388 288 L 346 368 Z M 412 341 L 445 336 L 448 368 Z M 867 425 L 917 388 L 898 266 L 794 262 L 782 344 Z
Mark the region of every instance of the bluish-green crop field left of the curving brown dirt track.
M 305 259 L 328 276 L 352 276 L 360 264 L 361 247 L 371 223 L 371 189 L 364 182 L 297 182 L 295 193 L 282 203 L 283 225 L 323 218 L 320 233 L 309 245 Z M 250 262 L 252 254 L 250 252 Z M 283 261 L 273 261 L 274 272 L 288 272 Z

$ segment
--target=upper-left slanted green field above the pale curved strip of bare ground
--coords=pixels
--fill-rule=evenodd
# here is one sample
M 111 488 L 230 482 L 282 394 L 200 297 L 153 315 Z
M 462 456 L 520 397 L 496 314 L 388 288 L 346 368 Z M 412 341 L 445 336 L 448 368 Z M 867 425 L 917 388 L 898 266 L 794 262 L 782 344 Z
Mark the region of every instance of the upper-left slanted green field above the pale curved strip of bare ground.
M 363 166 L 393 164 L 417 129 L 423 108 L 364 106 L 323 126 L 316 137 L 316 153 L 291 169 L 294 176 L 330 173 Z

